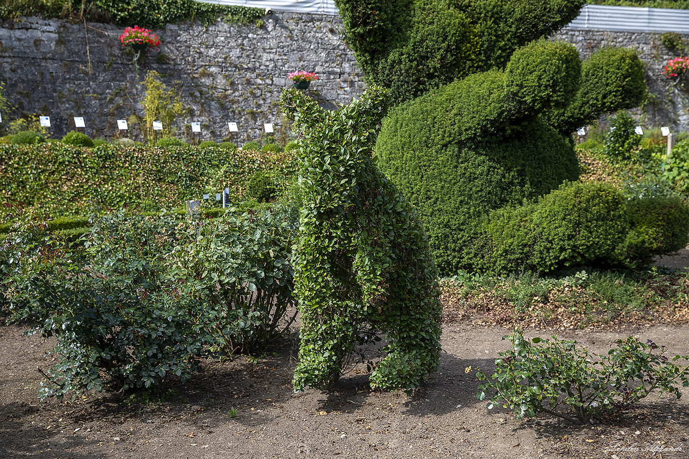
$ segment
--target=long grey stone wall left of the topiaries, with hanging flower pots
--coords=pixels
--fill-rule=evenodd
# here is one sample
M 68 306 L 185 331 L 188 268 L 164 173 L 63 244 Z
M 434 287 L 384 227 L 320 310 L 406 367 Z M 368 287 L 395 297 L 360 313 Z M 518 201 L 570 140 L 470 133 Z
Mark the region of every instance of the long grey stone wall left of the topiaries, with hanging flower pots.
M 200 122 L 201 140 L 220 141 L 229 134 L 227 122 L 237 122 L 236 143 L 243 145 L 272 122 L 284 142 L 289 133 L 278 100 L 291 87 L 289 72 L 316 72 L 307 92 L 323 107 L 347 104 L 364 89 L 340 28 L 339 17 L 287 12 L 264 17 L 260 28 L 172 24 L 154 31 L 160 51 L 134 65 L 134 53 L 119 41 L 122 28 L 22 18 L 0 28 L 0 81 L 16 107 L 13 117 L 48 115 L 53 137 L 73 129 L 74 116 L 85 118 L 91 137 L 119 135 L 116 120 L 143 117 L 141 82 L 155 70 L 166 85 L 179 82 L 186 109 L 178 136 L 188 137 L 189 123 Z M 129 134 L 141 140 L 136 126 Z

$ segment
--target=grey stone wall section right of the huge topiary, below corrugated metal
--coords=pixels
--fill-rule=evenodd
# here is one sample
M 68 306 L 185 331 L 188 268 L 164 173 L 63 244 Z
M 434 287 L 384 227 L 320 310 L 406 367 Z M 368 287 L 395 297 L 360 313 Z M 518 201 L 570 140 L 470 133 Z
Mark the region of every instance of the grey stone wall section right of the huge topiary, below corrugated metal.
M 604 46 L 628 47 L 637 50 L 646 66 L 646 83 L 648 85 L 648 103 L 631 112 L 637 121 L 646 127 L 668 126 L 673 131 L 689 131 L 689 98 L 688 85 L 682 85 L 683 79 L 675 82 L 663 75 L 663 67 L 668 59 L 679 54 L 668 50 L 660 40 L 659 34 L 635 32 L 608 32 L 597 30 L 564 30 L 554 39 L 572 43 L 579 50 L 582 58 L 590 56 Z M 689 36 L 682 37 L 689 43 Z

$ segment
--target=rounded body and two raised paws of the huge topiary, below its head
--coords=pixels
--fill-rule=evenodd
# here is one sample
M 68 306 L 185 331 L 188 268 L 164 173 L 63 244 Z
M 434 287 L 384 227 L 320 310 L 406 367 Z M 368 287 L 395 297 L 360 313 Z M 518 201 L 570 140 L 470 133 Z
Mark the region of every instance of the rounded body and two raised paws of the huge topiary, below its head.
M 611 63 L 615 78 L 607 78 Z M 633 52 L 606 49 L 582 63 L 572 45 L 535 41 L 504 71 L 472 74 L 396 107 L 376 155 L 420 213 L 441 272 L 484 270 L 492 250 L 477 244 L 485 215 L 577 180 L 571 129 L 639 103 L 644 87 Z

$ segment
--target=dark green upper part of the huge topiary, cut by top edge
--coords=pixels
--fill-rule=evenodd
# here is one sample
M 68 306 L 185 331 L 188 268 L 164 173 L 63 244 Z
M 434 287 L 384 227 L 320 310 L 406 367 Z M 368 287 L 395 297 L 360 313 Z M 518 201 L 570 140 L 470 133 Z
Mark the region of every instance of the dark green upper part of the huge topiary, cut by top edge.
M 401 103 L 477 71 L 575 19 L 582 0 L 337 0 L 369 83 Z M 553 67 L 555 70 L 555 67 Z

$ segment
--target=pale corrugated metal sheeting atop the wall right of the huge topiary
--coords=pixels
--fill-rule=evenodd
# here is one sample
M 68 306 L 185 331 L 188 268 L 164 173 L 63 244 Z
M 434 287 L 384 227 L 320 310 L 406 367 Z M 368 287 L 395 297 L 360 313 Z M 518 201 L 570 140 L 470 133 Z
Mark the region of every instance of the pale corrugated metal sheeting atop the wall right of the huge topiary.
M 586 5 L 567 29 L 689 34 L 689 10 Z

